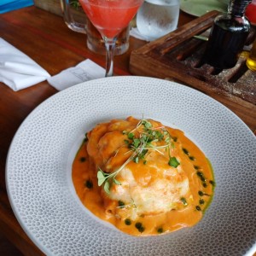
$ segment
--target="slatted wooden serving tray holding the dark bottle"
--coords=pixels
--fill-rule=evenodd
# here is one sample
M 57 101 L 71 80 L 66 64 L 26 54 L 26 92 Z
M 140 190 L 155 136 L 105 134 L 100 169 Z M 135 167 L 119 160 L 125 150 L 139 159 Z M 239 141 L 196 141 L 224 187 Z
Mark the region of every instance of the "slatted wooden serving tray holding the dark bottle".
M 131 52 L 130 71 L 136 75 L 170 79 L 187 84 L 224 103 L 247 125 L 256 130 L 256 73 L 246 66 L 242 52 L 236 67 L 215 70 L 201 59 L 207 41 L 194 38 L 211 28 L 219 13 L 212 11 Z M 247 49 L 255 38 L 255 28 L 247 38 Z

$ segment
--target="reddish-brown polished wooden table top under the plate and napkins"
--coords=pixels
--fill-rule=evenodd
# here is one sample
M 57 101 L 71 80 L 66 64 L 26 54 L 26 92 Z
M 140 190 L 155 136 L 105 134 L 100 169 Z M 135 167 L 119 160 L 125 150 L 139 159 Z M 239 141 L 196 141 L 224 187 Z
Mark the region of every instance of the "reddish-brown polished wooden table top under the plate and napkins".
M 192 16 L 181 12 L 179 25 L 193 19 Z M 103 55 L 96 55 L 86 48 L 84 34 L 72 32 L 60 16 L 34 6 L 0 15 L 0 37 L 32 57 L 50 75 L 76 66 L 86 58 L 102 67 L 105 64 Z M 131 50 L 144 44 L 144 41 L 131 38 L 129 51 L 115 57 L 114 73 L 131 75 Z M 5 163 L 10 143 L 22 121 L 38 104 L 56 92 L 47 81 L 18 92 L 0 83 L 0 230 L 25 255 L 43 253 L 26 236 L 10 207 L 5 186 Z M 256 129 L 256 121 L 247 125 L 253 131 Z

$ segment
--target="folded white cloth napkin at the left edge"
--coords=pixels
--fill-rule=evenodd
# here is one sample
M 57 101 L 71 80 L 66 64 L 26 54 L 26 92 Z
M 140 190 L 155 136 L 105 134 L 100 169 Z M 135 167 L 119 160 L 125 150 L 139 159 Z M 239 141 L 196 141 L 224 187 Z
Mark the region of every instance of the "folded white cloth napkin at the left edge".
M 30 57 L 0 38 L 0 82 L 16 91 L 49 77 L 49 73 Z

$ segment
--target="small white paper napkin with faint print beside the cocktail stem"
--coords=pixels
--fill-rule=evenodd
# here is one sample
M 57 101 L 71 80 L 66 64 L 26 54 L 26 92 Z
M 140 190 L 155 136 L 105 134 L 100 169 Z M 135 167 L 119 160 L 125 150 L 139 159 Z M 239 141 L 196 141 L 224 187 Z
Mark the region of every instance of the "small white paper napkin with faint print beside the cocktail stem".
M 92 79 L 102 79 L 105 76 L 105 69 L 95 62 L 87 59 L 76 67 L 69 67 L 61 73 L 47 79 L 48 83 L 56 90 L 64 90 L 75 84 L 79 84 Z

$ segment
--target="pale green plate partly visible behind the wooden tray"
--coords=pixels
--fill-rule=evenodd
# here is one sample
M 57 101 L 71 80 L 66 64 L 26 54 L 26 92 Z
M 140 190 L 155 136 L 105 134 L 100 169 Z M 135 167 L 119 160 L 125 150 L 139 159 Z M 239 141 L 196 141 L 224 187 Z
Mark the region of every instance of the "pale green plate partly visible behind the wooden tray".
M 228 5 L 220 3 L 218 0 L 181 0 L 180 9 L 189 15 L 198 17 L 205 15 L 212 10 L 226 12 L 228 10 Z

